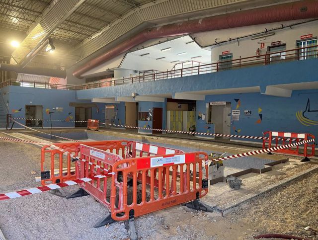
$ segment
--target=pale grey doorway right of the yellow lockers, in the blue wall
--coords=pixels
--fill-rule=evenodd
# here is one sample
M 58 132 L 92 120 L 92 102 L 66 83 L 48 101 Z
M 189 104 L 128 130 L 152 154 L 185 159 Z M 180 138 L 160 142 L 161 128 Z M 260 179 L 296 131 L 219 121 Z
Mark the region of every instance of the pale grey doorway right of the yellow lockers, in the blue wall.
M 231 134 L 231 103 L 211 105 L 211 123 L 217 134 Z

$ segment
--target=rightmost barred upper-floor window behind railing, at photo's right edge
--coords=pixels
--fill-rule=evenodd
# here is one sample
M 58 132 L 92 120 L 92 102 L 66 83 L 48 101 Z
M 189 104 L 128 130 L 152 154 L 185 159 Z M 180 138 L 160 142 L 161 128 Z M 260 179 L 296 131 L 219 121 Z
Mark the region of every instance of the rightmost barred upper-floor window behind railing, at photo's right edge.
M 317 37 L 316 39 L 309 40 L 299 40 L 296 42 L 297 48 L 302 48 L 298 50 L 298 59 L 314 59 L 318 57 L 318 48 L 317 48 Z M 311 47 L 313 46 L 313 47 Z

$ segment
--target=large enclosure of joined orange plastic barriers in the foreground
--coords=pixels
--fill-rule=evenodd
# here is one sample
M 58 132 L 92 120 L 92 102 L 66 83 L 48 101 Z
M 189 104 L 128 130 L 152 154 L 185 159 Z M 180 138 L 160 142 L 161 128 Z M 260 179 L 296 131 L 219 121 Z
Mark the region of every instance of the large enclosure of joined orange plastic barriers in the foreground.
M 105 205 L 116 221 L 199 199 L 208 192 L 208 156 L 204 152 L 184 153 L 124 140 L 56 146 L 79 157 L 75 172 L 71 171 L 74 163 L 70 154 L 63 155 L 59 150 L 43 147 L 41 171 L 48 154 L 51 168 L 49 177 L 43 179 L 42 184 L 84 177 L 93 179 L 80 183 L 79 187 Z M 63 173 L 65 164 L 67 170 Z M 52 174 L 57 167 L 58 174 Z M 110 172 L 113 175 L 109 175 Z

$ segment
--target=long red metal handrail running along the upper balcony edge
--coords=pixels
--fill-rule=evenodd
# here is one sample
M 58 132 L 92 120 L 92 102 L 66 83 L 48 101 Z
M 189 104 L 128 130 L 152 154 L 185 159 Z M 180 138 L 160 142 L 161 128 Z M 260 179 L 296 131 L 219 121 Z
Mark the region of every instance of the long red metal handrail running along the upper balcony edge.
M 300 50 L 306 50 L 301 51 Z M 273 58 L 279 56 L 279 59 Z M 284 59 L 281 57 L 284 56 Z M 70 85 L 70 84 L 55 84 L 55 83 L 43 83 L 43 82 L 30 82 L 30 81 L 20 81 L 22 85 L 27 83 L 28 86 L 40 87 L 40 88 L 49 88 L 49 89 L 67 89 L 67 90 L 81 90 L 81 89 L 89 89 L 89 88 L 99 88 L 99 87 L 107 87 L 107 86 L 115 86 L 122 84 L 131 84 L 135 82 L 147 82 L 147 81 L 155 81 L 155 80 L 163 80 L 163 79 L 173 79 L 180 78 L 185 76 L 193 76 L 199 74 L 207 74 L 213 72 L 227 71 L 232 69 L 240 69 L 245 67 L 252 66 L 264 66 L 281 62 L 288 61 L 299 61 L 304 60 L 305 58 L 318 58 L 318 45 L 303 47 L 303 48 L 295 48 L 290 50 L 271 52 L 261 55 L 255 55 L 250 57 L 244 57 L 239 59 L 232 59 L 227 61 L 217 61 L 211 64 L 202 64 L 194 67 L 174 69 L 166 72 L 154 72 L 147 75 L 139 75 L 132 76 L 127 78 L 116 78 L 116 79 L 108 79 L 104 81 L 95 81 L 89 82 L 79 85 Z M 14 85 L 16 84 L 15 80 L 8 80 L 0 83 L 0 87 Z M 19 83 L 21 84 L 21 83 Z

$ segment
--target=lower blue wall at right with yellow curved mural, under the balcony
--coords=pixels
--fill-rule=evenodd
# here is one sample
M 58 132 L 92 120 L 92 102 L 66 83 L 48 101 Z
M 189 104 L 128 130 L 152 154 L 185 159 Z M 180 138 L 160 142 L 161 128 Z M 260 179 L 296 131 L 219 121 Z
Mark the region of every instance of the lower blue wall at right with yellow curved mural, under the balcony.
M 235 99 L 239 99 L 240 106 Z M 310 111 L 306 110 L 308 99 Z M 240 110 L 239 121 L 231 121 L 231 134 L 262 136 L 265 131 L 311 133 L 318 137 L 318 90 L 293 91 L 292 97 L 275 97 L 260 93 L 209 95 L 205 101 L 197 101 L 199 112 L 206 113 L 206 103 L 211 101 L 231 102 L 232 109 Z M 260 109 L 258 109 L 260 108 Z M 244 115 L 251 110 L 251 115 Z M 296 113 L 299 112 L 298 118 Z M 262 114 L 261 121 L 260 115 Z M 232 116 L 231 116 L 232 120 Z M 197 120 L 199 132 L 207 132 L 204 120 Z M 211 128 L 214 133 L 214 128 Z

